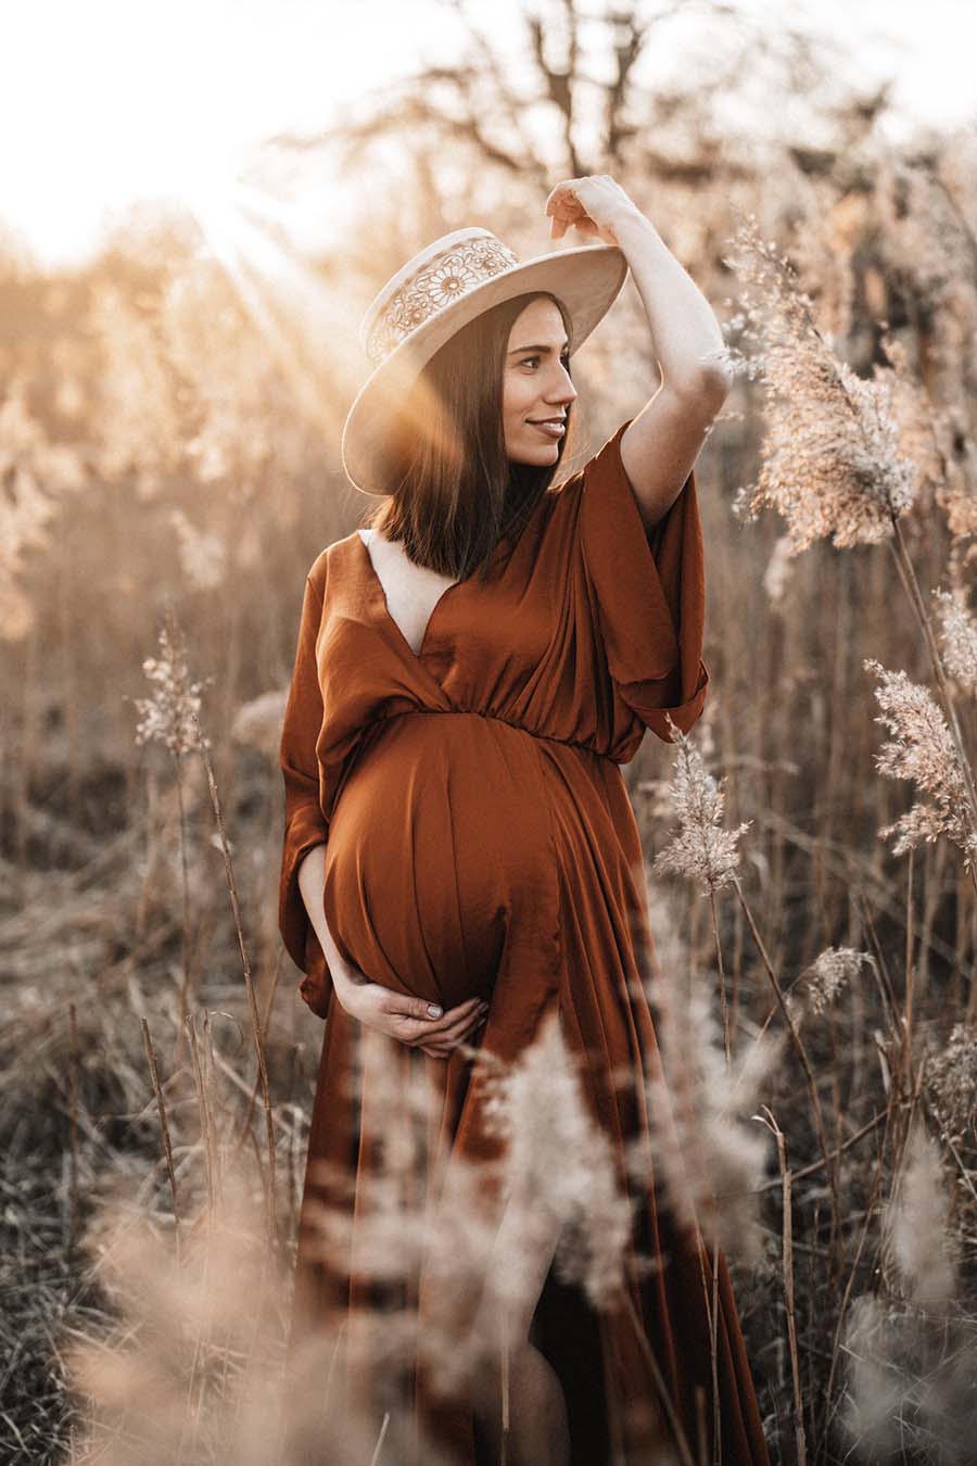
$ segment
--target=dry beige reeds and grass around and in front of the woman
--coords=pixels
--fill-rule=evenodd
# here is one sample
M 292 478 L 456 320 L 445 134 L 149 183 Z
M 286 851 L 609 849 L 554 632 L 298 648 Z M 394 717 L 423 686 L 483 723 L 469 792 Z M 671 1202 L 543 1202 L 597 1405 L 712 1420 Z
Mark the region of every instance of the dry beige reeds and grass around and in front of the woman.
M 644 1143 L 728 1249 L 773 1459 L 962 1466 L 977 157 L 951 139 L 932 164 L 870 161 L 845 192 L 763 180 L 738 217 L 699 201 L 700 279 L 735 292 L 746 369 L 716 428 L 728 459 L 702 474 L 716 690 L 672 768 L 650 740 L 628 768 L 668 1076 L 647 1100 L 675 1121 Z M 324 510 L 322 460 L 353 365 L 283 346 L 177 240 L 161 257 L 86 281 L 83 317 L 47 315 L 44 369 L 4 345 L 0 1454 L 290 1466 L 328 1428 L 330 1460 L 394 1463 L 397 1393 L 381 1421 L 331 1394 L 356 1340 L 284 1372 L 321 1028 L 274 929 L 275 729 L 302 575 L 352 517 Z M 366 286 L 346 262 L 315 292 L 340 325 Z M 584 383 L 609 430 L 634 406 L 621 381 L 647 375 L 640 321 L 618 340 L 630 365 L 595 345 Z M 757 463 L 731 520 L 721 494 Z M 158 644 L 167 605 L 183 648 L 173 619 Z M 161 701 L 133 715 L 144 667 Z M 136 742 L 138 718 L 163 743 Z M 416 1344 L 460 1380 L 504 1350 L 543 1223 L 568 1224 L 567 1275 L 614 1293 L 627 1208 L 557 1035 L 498 1083 L 542 1207 L 516 1193 L 499 1259 L 458 1173 L 444 1297 L 488 1277 L 485 1327 L 458 1341 L 448 1309 L 417 1340 L 410 1314 L 387 1318 L 391 1375 Z M 412 1124 L 391 1114 L 394 1176 Z M 646 1174 L 647 1149 L 628 1161 Z M 431 1240 L 401 1192 L 362 1234 L 379 1275 Z

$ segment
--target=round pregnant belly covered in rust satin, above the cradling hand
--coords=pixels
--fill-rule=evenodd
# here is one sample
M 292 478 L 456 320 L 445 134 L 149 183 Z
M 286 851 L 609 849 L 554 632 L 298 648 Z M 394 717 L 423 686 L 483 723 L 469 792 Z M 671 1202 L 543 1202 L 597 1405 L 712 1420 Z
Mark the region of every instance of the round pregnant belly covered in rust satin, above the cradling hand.
M 513 922 L 554 924 L 543 764 L 476 712 L 385 720 L 347 774 L 325 847 L 325 918 L 374 982 L 445 1007 L 491 997 Z

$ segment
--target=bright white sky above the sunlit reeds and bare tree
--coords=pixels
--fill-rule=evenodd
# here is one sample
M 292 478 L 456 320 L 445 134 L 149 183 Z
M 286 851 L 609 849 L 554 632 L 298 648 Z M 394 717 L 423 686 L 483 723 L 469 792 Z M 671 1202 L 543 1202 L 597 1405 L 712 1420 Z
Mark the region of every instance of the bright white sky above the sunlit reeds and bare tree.
M 582 6 L 593 13 L 606 0 Z M 750 16 L 773 0 L 731 0 Z M 501 47 L 539 0 L 476 4 Z M 907 119 L 977 119 L 970 0 L 807 0 L 845 40 L 851 75 L 891 75 Z M 801 6 L 790 9 L 795 22 Z M 713 22 L 715 25 L 715 22 Z M 672 43 L 674 44 L 674 43 Z M 706 37 L 707 44 L 707 37 Z M 327 126 L 423 60 L 451 62 L 444 0 L 29 0 L 9 6 L 0 72 L 0 230 L 44 265 L 81 261 L 133 201 L 212 202 L 249 148 Z M 661 53 L 658 60 L 661 62 Z M 15 142 L 16 139 L 16 142 Z M 302 243 L 328 237 L 343 198 L 309 191 Z

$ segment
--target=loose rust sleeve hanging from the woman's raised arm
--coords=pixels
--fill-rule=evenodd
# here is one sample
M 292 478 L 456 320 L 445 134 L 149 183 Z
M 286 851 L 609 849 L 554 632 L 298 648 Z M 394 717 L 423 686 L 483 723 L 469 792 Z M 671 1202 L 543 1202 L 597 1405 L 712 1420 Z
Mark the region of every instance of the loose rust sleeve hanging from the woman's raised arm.
M 665 743 L 665 712 L 687 733 L 703 710 L 706 576 L 694 472 L 647 531 L 621 460 L 628 418 L 583 472 L 580 545 L 608 670 Z

